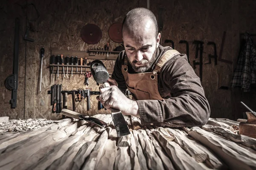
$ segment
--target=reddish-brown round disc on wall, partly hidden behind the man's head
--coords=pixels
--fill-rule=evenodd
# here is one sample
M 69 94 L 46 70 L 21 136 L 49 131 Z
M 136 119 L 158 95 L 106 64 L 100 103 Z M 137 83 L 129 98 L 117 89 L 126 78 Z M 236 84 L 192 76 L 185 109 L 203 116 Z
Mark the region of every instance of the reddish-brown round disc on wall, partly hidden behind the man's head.
M 108 36 L 113 42 L 123 42 L 122 40 L 122 23 L 114 23 L 108 29 Z

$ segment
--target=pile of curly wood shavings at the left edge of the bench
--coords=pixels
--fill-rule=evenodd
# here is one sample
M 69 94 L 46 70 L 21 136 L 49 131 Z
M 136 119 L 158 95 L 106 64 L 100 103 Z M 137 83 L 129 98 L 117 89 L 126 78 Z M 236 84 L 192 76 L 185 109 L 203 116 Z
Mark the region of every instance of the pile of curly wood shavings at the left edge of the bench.
M 35 130 L 40 127 L 46 126 L 53 123 L 52 120 L 47 119 L 27 119 L 27 120 L 16 120 L 12 119 L 9 120 L 9 122 L 1 123 L 0 125 L 0 134 L 3 134 L 5 132 L 26 132 L 28 130 Z

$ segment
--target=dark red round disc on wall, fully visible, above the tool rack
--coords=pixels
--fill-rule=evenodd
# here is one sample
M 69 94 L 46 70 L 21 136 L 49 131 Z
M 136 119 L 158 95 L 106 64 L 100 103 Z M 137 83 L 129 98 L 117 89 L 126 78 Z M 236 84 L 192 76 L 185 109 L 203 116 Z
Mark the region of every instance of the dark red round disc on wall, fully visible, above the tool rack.
M 87 24 L 81 29 L 81 38 L 87 44 L 96 44 L 102 38 L 102 31 L 95 24 Z

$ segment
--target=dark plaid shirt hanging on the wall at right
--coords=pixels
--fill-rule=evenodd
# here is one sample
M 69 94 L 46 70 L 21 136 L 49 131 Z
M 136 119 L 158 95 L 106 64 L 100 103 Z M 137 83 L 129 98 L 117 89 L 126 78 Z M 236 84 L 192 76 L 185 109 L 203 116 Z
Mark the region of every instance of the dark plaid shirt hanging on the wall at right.
M 256 48 L 252 37 L 246 32 L 230 87 L 241 87 L 242 91 L 248 92 L 253 83 L 256 83 Z

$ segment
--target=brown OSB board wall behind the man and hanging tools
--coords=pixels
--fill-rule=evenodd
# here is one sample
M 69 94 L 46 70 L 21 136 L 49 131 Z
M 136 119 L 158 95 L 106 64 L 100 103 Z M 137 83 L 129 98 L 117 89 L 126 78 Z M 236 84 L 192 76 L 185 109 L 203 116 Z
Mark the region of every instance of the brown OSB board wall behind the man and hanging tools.
M 26 0 L 17 1 L 25 5 Z M 47 119 L 59 119 L 55 113 L 51 113 L 50 95 L 47 91 L 56 84 L 62 84 L 63 90 L 73 90 L 77 88 L 86 88 L 84 86 L 84 76 L 74 75 L 70 79 L 59 77 L 55 82 L 50 82 L 49 57 L 50 48 L 65 50 L 85 51 L 90 48 L 96 48 L 96 45 L 88 45 L 81 40 L 80 30 L 87 23 L 94 23 L 102 30 L 102 40 L 98 46 L 103 47 L 110 42 L 110 49 L 115 48 L 117 43 L 111 41 L 108 37 L 108 28 L 113 23 L 121 23 L 124 15 L 135 7 L 146 7 L 146 0 L 29 0 L 34 3 L 40 12 L 40 17 L 34 22 L 35 32 L 30 32 L 29 37 L 35 39 L 35 42 L 26 43 L 26 81 L 25 81 L 25 42 L 22 40 L 26 30 L 26 9 L 24 11 L 15 4 L 15 1 L 1 1 L 1 40 L 0 51 L 3 59 L 1 60 L 1 79 L 4 80 L 9 74 L 12 74 L 13 62 L 13 44 L 14 44 L 14 22 L 15 17 L 20 17 L 20 55 L 19 55 L 19 87 L 17 108 L 10 109 L 9 99 L 11 92 L 6 90 L 4 82 L 1 83 L 1 107 L 0 116 L 11 116 L 11 118 L 34 118 L 45 117 Z M 175 49 L 185 53 L 185 45 L 178 44 L 179 40 L 189 42 L 190 64 L 195 59 L 195 45 L 193 40 L 204 41 L 204 63 L 208 62 L 208 54 L 213 54 L 213 48 L 206 45 L 208 41 L 213 41 L 217 45 L 217 54 L 219 54 L 221 38 L 223 31 L 227 31 L 226 41 L 222 58 L 233 60 L 238 53 L 239 46 L 239 1 L 238 0 L 158 0 L 150 1 L 150 9 L 157 16 L 157 8 L 163 7 L 163 42 L 166 39 L 175 42 Z M 248 7 L 250 8 L 250 6 Z M 28 16 L 34 17 L 35 11 L 28 8 Z M 164 44 L 163 45 L 170 45 Z M 38 93 L 39 73 L 40 73 L 40 48 L 45 48 L 43 62 L 42 91 Z M 108 68 L 113 67 L 114 61 L 105 62 Z M 232 65 L 218 62 L 214 65 L 203 65 L 202 85 L 207 99 L 211 106 L 211 117 L 226 117 L 233 119 L 231 91 L 218 89 L 220 74 L 222 77 L 229 77 L 232 74 Z M 221 70 L 221 71 L 220 71 Z M 195 70 L 199 75 L 199 66 Z M 24 97 L 24 87 L 26 82 L 26 95 Z M 99 86 L 90 78 L 89 88 L 98 91 Z M 96 96 L 91 96 L 91 110 L 87 112 L 86 101 L 77 102 L 76 111 L 85 115 L 97 113 L 109 113 L 104 109 L 97 110 Z M 24 107 L 25 99 L 25 107 Z M 68 108 L 72 109 L 71 95 L 68 98 Z M 25 111 L 24 111 L 25 108 Z M 25 113 L 25 114 L 24 114 Z

